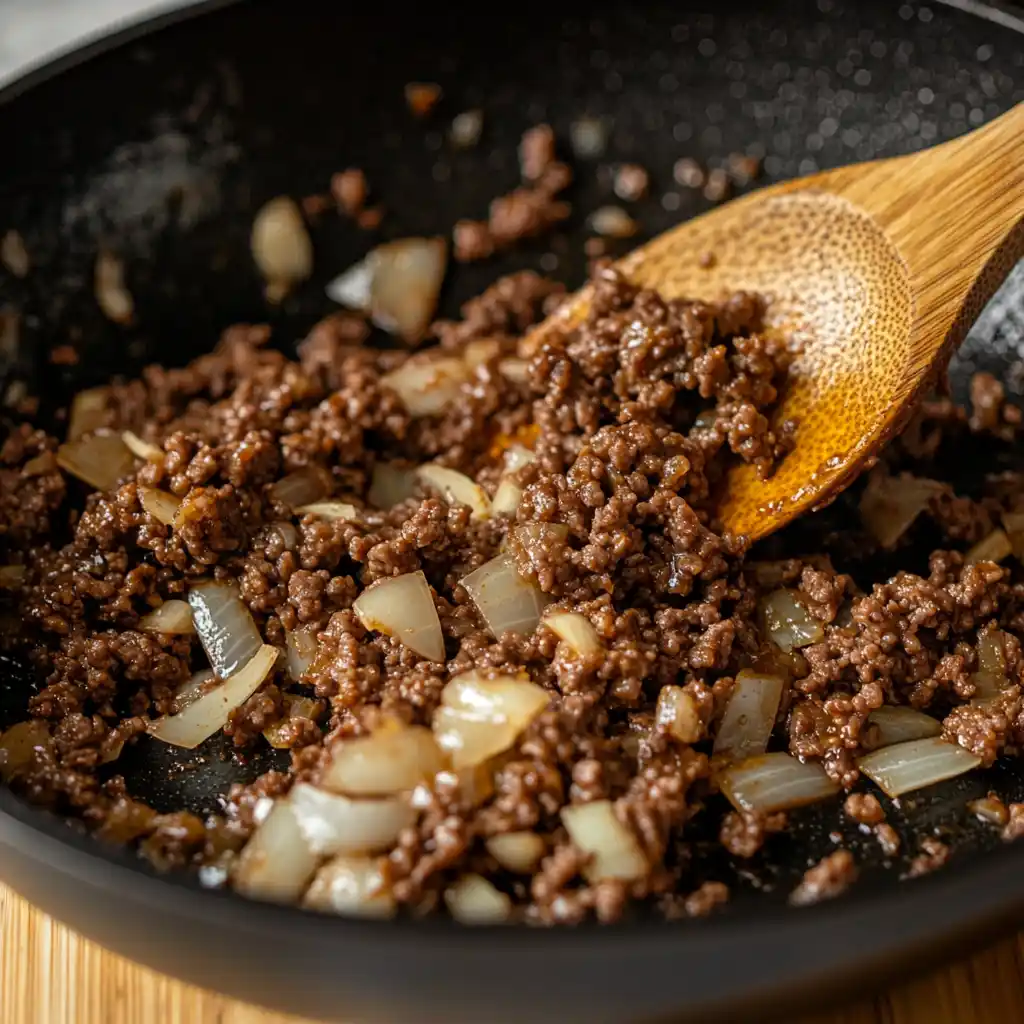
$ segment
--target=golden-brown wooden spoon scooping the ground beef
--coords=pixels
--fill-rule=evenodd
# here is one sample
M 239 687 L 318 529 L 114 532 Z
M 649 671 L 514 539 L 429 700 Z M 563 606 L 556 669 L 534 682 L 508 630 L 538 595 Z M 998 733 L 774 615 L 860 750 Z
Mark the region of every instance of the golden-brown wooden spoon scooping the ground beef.
M 774 413 L 796 446 L 762 481 L 728 475 L 724 528 L 755 540 L 826 503 L 906 423 L 1024 256 L 1024 103 L 923 153 L 764 188 L 617 263 L 666 298 L 753 291 L 802 345 Z M 710 258 L 709 258 L 710 257 Z M 586 316 L 585 288 L 527 339 Z

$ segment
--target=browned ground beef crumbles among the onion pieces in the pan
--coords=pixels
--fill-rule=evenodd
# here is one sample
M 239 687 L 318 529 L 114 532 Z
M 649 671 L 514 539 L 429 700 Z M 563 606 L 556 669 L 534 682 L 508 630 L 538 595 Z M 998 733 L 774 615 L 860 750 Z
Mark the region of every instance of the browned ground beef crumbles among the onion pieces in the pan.
M 550 134 L 525 138 L 521 157 L 527 184 L 514 202 L 550 202 L 565 180 Z M 356 190 L 343 202 L 359 205 Z M 492 247 L 504 237 L 496 219 L 493 210 Z M 79 441 L 109 444 L 132 431 L 150 446 L 110 489 L 75 479 L 57 438 L 11 429 L 0 450 L 3 593 L 30 639 L 5 642 L 41 685 L 28 709 L 32 742 L 6 737 L 6 780 L 106 839 L 136 844 L 160 867 L 238 882 L 240 851 L 259 838 L 268 808 L 290 806 L 303 787 L 339 791 L 340 751 L 416 728 L 421 739 L 431 727 L 440 737 L 452 681 L 467 673 L 528 680 L 540 702 L 485 758 L 469 770 L 442 764 L 389 798 L 400 822 L 370 850 L 377 856 L 360 860 L 375 880 L 372 900 L 325 904 L 330 872 L 355 869 L 336 861 L 306 898 L 358 912 L 447 905 L 466 918 L 472 890 L 476 920 L 483 905 L 495 918 L 572 923 L 612 921 L 631 905 L 678 916 L 724 903 L 727 887 L 702 878 L 687 852 L 697 815 L 713 818 L 738 858 L 784 830 L 782 809 L 728 810 L 719 792 L 728 759 L 714 744 L 744 670 L 781 680 L 769 750 L 820 765 L 826 788 L 859 780 L 857 759 L 878 738 L 870 716 L 885 705 L 944 720 L 946 738 L 985 764 L 1018 748 L 1022 658 L 1012 634 L 1024 627 L 1024 583 L 965 551 L 1016 510 L 1022 481 L 1004 474 L 980 496 L 929 492 L 916 519 L 887 542 L 910 550 L 928 538 L 935 550 L 923 574 L 869 574 L 872 558 L 892 553 L 861 525 L 863 484 L 751 557 L 743 538 L 716 523 L 716 484 L 737 460 L 767 476 L 799 432 L 771 425 L 787 352 L 762 331 L 761 300 L 665 301 L 604 264 L 592 284 L 585 322 L 534 352 L 520 340 L 561 290 L 531 273 L 499 282 L 461 321 L 434 325 L 439 345 L 426 356 L 366 346 L 366 326 L 349 314 L 316 325 L 295 360 L 267 345 L 268 329 L 233 327 L 189 366 L 151 367 L 102 392 L 89 427 L 99 432 Z M 391 375 L 410 359 L 468 364 L 471 350 L 457 396 L 413 415 Z M 982 381 L 974 396 L 971 416 L 944 399 L 926 404 L 867 486 L 934 474 L 950 437 L 1014 435 L 1019 417 L 1001 391 Z M 510 454 L 525 450 L 508 468 Z M 401 474 L 428 462 L 475 481 L 483 498 L 407 474 L 406 493 L 375 507 L 382 467 Z M 315 473 L 318 500 L 347 503 L 352 514 L 293 507 L 278 485 L 296 473 Z M 488 514 L 506 485 L 515 502 Z M 172 516 L 155 511 L 154 493 Z M 548 607 L 540 624 L 496 636 L 467 577 L 500 557 Z M 436 612 L 441 657 L 418 653 L 358 606 L 371 585 L 415 573 Z M 154 631 L 146 614 L 209 581 L 237 587 L 265 644 L 291 650 L 304 638 L 310 655 L 298 669 L 283 656 L 223 724 L 241 751 L 272 737 L 290 751 L 291 769 L 234 786 L 224 814 L 202 821 L 132 799 L 117 760 L 126 745 L 159 741 L 146 735 L 154 721 L 180 714 L 182 688 L 207 668 L 196 635 Z M 778 594 L 805 631 L 788 651 L 765 617 L 766 597 Z M 582 616 L 571 620 L 575 633 L 557 629 L 552 611 Z M 1001 660 L 998 691 L 981 699 L 995 664 L 983 634 L 997 638 Z M 217 681 L 197 685 L 194 698 Z M 845 806 L 895 852 L 873 796 L 851 795 Z M 566 809 L 587 811 L 587 825 Z M 1008 837 L 1024 830 L 1018 811 L 1010 809 Z M 592 842 L 595 829 L 603 840 Z M 937 841 L 923 850 L 914 872 L 945 857 Z M 313 858 L 294 891 L 262 895 L 301 898 L 316 868 Z M 792 902 L 836 895 L 855 876 L 839 850 L 807 872 Z

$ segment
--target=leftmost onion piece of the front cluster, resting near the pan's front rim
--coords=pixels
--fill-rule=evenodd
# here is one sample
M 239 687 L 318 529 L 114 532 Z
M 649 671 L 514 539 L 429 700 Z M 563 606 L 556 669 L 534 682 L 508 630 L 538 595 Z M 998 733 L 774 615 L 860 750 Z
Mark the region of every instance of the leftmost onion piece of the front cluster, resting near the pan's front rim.
M 290 798 L 275 800 L 234 863 L 234 888 L 244 896 L 294 903 L 319 858 L 309 848 Z

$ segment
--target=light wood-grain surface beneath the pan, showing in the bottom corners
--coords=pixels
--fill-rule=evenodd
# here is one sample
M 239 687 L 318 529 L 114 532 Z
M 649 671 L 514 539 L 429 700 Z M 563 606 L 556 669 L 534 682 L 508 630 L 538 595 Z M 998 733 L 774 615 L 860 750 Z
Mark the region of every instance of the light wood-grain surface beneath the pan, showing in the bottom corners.
M 872 999 L 794 1024 L 1024 1020 L 1024 936 Z M 0 886 L 3 1024 L 306 1024 L 173 981 L 106 952 Z

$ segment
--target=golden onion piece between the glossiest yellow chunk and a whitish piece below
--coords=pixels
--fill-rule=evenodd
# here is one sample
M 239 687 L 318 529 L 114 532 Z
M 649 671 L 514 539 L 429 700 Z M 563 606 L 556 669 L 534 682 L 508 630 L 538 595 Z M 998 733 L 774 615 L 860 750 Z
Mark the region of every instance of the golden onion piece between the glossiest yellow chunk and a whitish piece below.
M 384 797 L 432 779 L 444 759 L 429 729 L 388 723 L 331 748 L 321 785 L 352 797 Z

